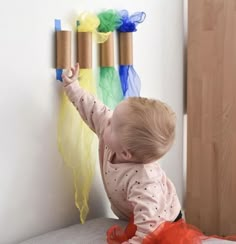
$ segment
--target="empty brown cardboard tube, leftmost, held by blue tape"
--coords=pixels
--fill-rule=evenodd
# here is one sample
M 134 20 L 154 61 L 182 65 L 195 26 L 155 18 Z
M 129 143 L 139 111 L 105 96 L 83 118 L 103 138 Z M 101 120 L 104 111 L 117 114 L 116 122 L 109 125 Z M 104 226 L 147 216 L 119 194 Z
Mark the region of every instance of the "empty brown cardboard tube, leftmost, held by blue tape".
M 56 68 L 71 67 L 71 31 L 56 31 Z

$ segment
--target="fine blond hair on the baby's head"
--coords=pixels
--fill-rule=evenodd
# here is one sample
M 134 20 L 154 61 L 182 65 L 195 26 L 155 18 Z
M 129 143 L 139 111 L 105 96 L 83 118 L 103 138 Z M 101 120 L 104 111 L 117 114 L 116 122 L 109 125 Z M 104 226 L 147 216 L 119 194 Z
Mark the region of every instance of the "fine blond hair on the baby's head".
M 127 116 L 120 128 L 122 145 L 144 163 L 158 160 L 173 144 L 175 113 L 159 100 L 130 97 L 124 102 Z

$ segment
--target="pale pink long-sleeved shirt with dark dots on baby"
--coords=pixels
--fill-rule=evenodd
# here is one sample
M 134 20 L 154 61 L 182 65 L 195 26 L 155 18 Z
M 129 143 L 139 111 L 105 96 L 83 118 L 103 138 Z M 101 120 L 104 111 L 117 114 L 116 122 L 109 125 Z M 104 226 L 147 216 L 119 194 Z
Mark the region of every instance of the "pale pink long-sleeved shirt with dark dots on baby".
M 125 243 L 139 244 L 165 221 L 174 221 L 181 206 L 175 187 L 159 163 L 112 164 L 114 153 L 103 142 L 103 131 L 112 111 L 73 82 L 65 87 L 83 120 L 99 138 L 102 179 L 113 212 L 124 220 L 134 214 L 135 236 Z

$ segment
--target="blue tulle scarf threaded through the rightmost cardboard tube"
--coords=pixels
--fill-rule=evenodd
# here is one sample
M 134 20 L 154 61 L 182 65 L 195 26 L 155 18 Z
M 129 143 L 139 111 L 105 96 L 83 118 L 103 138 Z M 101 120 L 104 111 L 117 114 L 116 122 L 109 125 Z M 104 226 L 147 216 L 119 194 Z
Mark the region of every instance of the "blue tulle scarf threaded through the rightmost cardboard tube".
M 137 25 L 144 21 L 146 14 L 144 12 L 136 12 L 129 16 L 127 10 L 122 10 L 120 11 L 120 16 L 122 24 L 117 31 L 134 32 L 137 31 Z M 120 65 L 119 75 L 124 97 L 139 97 L 141 81 L 133 65 Z

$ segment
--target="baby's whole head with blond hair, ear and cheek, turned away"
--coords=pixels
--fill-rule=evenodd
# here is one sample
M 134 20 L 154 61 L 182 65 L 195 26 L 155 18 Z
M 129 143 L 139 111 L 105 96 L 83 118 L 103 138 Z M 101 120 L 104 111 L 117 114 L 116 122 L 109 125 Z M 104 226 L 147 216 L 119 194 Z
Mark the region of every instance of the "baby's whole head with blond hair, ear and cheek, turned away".
M 115 108 L 104 140 L 124 160 L 148 163 L 169 151 L 175 124 L 175 113 L 167 104 L 130 97 Z

